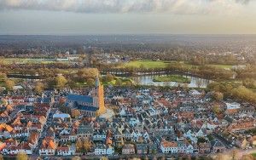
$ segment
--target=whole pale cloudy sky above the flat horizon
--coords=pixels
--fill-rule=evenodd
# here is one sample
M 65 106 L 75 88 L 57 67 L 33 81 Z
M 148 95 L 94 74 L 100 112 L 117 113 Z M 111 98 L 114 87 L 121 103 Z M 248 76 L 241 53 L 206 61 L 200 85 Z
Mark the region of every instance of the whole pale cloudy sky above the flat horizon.
M 0 0 L 0 34 L 256 34 L 256 0 Z

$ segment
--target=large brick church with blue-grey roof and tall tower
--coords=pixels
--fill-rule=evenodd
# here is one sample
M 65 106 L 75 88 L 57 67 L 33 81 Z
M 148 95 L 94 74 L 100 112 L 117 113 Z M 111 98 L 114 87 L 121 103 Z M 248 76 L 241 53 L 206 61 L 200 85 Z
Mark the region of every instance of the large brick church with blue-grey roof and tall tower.
M 67 106 L 78 109 L 84 117 L 96 117 L 106 111 L 104 104 L 104 88 L 99 78 L 96 78 L 96 87 L 88 95 L 67 95 Z

